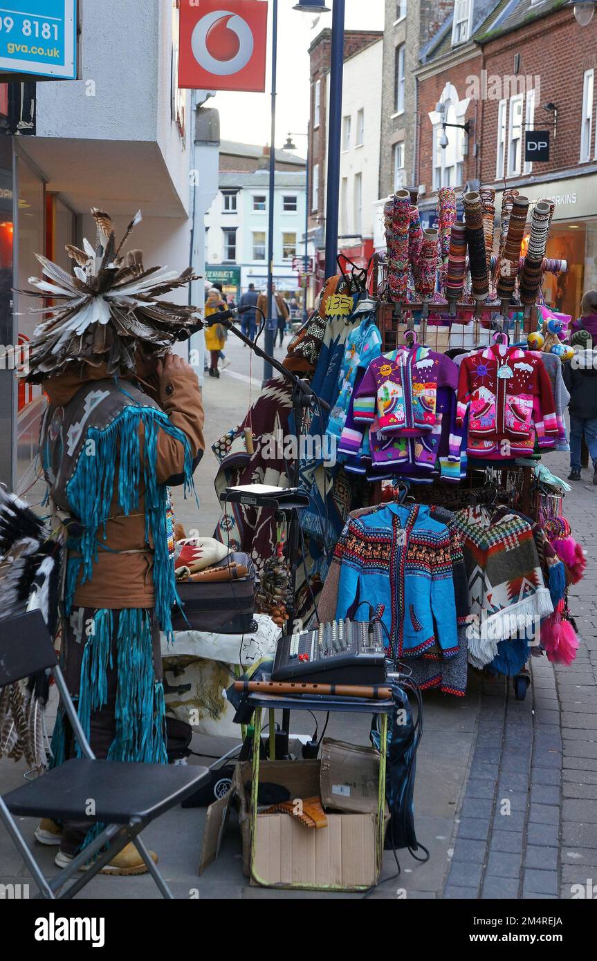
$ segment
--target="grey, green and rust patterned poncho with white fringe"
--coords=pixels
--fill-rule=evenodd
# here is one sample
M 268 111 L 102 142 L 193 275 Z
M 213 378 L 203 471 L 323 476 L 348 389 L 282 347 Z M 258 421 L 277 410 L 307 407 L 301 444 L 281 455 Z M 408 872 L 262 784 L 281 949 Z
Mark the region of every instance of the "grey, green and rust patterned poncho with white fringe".
M 529 636 L 554 607 L 545 587 L 533 528 L 500 508 L 465 507 L 454 515 L 468 577 L 469 660 L 489 664 L 500 641 Z

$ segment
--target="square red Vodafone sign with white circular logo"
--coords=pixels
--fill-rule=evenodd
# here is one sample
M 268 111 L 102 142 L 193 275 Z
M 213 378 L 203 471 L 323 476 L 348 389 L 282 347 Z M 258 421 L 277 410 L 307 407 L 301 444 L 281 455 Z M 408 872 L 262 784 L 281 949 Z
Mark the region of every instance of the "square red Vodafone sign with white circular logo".
M 178 85 L 265 89 L 265 0 L 180 0 Z

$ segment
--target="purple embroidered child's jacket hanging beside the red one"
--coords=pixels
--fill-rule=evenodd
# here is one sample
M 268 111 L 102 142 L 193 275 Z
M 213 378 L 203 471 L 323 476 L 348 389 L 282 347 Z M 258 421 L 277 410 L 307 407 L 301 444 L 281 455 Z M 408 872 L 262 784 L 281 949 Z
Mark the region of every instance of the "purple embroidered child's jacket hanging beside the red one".
M 355 420 L 372 424 L 375 415 L 382 433 L 419 437 L 433 431 L 438 387 L 456 390 L 456 364 L 428 347 L 399 347 L 373 360 L 354 403 Z

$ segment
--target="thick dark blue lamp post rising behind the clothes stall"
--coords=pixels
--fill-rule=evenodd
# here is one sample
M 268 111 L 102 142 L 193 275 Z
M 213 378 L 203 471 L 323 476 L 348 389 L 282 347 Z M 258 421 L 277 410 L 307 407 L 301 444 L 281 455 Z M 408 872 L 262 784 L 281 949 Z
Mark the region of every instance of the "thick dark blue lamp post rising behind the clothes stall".
M 334 13 L 332 15 L 332 52 L 330 57 L 330 116 L 328 119 L 326 277 L 333 277 L 336 274 L 343 69 L 344 0 L 334 0 Z

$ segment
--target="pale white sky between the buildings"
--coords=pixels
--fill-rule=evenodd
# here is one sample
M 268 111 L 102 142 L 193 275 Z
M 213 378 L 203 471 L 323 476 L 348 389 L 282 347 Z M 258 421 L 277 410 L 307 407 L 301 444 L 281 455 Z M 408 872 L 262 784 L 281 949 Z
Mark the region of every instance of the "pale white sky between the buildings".
M 298 13 L 297 0 L 278 3 L 278 79 L 276 98 L 276 146 L 282 147 L 291 132 L 297 156 L 305 157 L 309 121 L 309 54 L 315 37 L 332 26 L 332 13 Z M 333 0 L 332 0 L 333 4 Z M 332 6 L 328 3 L 328 6 Z M 383 30 L 384 0 L 346 0 L 347 30 Z M 271 37 L 272 3 L 269 3 Z M 314 21 L 316 20 L 316 23 Z M 271 123 L 271 39 L 268 42 L 265 93 L 221 91 L 210 100 L 220 113 L 220 136 L 242 143 L 269 143 Z M 300 136 L 302 132 L 305 136 Z

